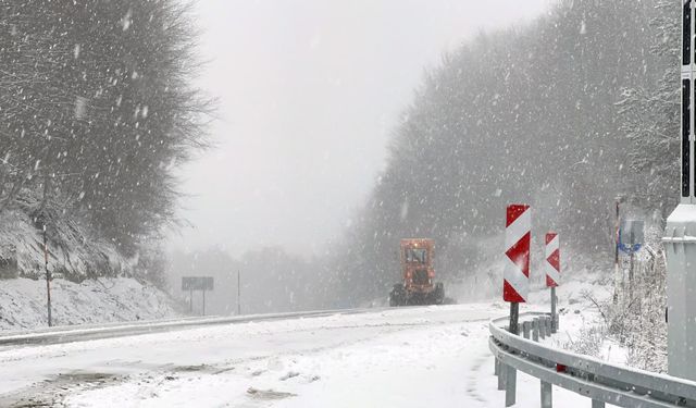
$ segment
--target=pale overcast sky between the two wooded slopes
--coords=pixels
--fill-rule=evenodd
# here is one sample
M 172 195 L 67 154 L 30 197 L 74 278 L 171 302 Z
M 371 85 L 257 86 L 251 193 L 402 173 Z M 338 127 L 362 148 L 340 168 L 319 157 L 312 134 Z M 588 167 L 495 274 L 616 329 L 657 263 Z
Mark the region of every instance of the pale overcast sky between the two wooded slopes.
M 550 0 L 199 0 L 217 148 L 182 169 L 173 249 L 316 254 L 380 171 L 423 70 Z

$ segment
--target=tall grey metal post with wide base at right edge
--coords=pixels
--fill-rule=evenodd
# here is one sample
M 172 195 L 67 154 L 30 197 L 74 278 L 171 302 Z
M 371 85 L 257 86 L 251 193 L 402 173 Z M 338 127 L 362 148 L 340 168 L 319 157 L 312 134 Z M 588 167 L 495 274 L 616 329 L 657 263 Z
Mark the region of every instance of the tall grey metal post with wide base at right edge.
M 682 183 L 681 202 L 667 219 L 668 373 L 696 380 L 696 197 L 694 195 L 694 81 L 696 0 L 682 1 Z

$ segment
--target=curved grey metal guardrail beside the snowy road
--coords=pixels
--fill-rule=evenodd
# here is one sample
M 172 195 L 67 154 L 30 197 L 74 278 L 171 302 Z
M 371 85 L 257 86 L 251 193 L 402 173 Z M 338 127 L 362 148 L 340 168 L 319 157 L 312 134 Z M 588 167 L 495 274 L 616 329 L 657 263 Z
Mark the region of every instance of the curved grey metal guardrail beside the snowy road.
M 696 382 L 552 349 L 530 339 L 530 329 L 532 335 L 546 334 L 543 331 L 550 325 L 548 314 L 521 314 L 524 336 L 508 332 L 507 319 L 495 319 L 488 324 L 488 345 L 496 358 L 498 390 L 506 391 L 506 407 L 515 404 L 517 370 L 540 380 L 542 408 L 552 407 L 551 385 L 591 398 L 592 408 L 604 408 L 605 404 L 636 408 L 696 407 Z M 537 329 L 533 321 L 538 322 Z

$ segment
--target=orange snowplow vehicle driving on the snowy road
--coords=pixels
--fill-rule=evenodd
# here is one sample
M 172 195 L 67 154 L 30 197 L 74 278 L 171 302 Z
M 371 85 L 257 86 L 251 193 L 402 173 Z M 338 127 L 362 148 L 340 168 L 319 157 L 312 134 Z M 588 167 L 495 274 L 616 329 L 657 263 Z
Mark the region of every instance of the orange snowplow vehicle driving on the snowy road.
M 435 283 L 433 257 L 435 242 L 426 238 L 401 239 L 401 277 L 389 293 L 389 306 L 442 305 L 445 285 Z

